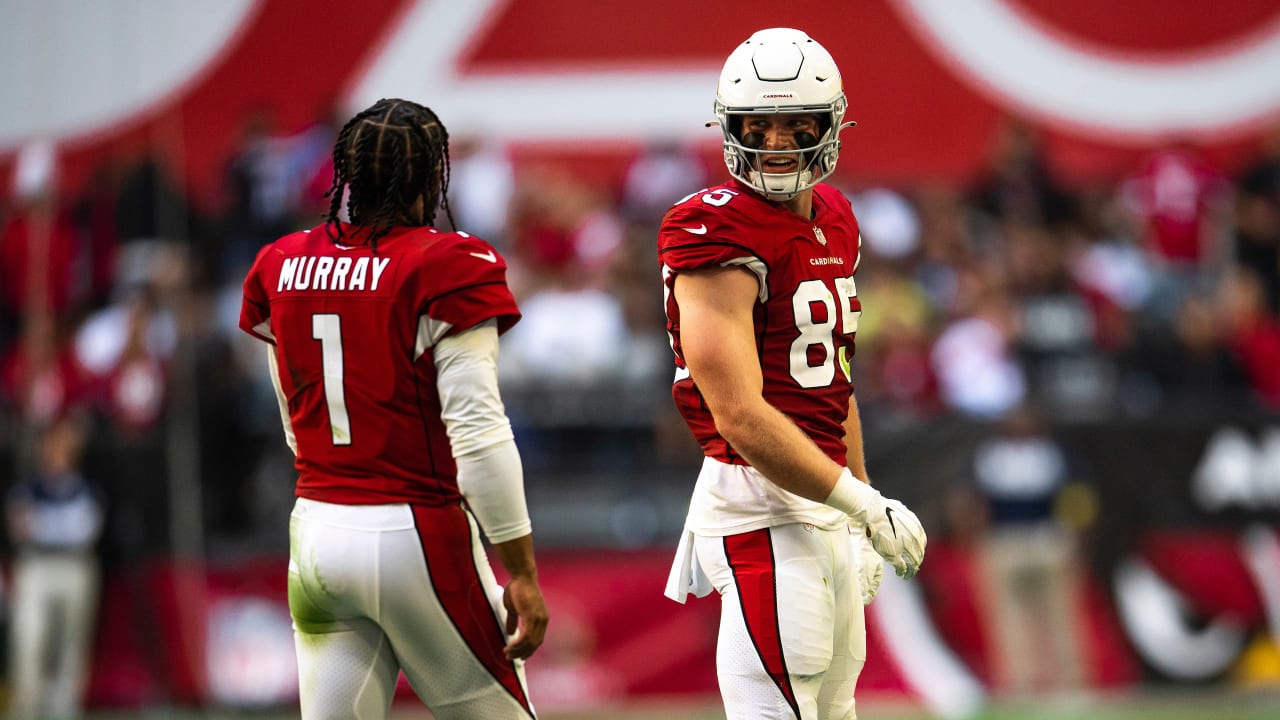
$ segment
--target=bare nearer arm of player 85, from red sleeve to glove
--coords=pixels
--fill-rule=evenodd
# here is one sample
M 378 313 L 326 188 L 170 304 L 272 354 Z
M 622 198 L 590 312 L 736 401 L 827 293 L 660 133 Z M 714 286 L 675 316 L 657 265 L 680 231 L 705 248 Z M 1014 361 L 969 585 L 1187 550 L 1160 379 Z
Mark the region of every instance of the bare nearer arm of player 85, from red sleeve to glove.
M 739 268 L 677 275 L 685 364 L 733 450 L 778 487 L 823 502 L 842 468 L 764 400 L 751 318 L 758 293 L 755 277 Z

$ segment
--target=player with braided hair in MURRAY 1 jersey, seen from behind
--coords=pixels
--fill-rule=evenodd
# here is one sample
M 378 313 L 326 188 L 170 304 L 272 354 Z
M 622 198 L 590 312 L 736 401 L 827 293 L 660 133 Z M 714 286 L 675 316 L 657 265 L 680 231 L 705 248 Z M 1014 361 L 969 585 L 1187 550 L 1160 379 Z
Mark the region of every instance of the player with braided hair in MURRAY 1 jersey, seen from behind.
M 524 661 L 547 606 L 495 373 L 520 319 L 506 261 L 431 227 L 439 208 L 453 218 L 448 133 L 428 108 L 379 100 L 333 159 L 328 222 L 259 252 L 241 311 L 270 345 L 297 455 L 302 717 L 387 717 L 401 671 L 435 717 L 534 717 Z

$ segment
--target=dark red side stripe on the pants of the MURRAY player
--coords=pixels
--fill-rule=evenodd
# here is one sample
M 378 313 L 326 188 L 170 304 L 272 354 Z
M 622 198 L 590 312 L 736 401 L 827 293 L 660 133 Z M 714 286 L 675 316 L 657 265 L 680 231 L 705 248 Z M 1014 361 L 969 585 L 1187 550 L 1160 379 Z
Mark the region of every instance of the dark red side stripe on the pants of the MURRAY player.
M 417 525 L 417 537 L 422 541 L 422 556 L 426 557 L 431 585 L 445 615 L 476 660 L 532 717 L 534 710 L 520 684 L 516 665 L 502 653 L 507 644 L 506 632 L 489 605 L 476 570 L 466 512 L 456 505 L 413 506 L 413 523 Z

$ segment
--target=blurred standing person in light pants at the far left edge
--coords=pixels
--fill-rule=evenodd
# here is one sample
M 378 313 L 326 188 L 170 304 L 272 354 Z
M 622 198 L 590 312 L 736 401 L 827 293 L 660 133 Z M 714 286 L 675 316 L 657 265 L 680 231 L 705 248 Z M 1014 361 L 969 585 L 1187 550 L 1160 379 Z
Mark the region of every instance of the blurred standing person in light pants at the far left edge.
M 81 471 L 81 420 L 61 415 L 40 434 L 35 469 L 8 496 L 17 551 L 9 628 L 14 720 L 78 717 L 83 706 L 104 506 Z

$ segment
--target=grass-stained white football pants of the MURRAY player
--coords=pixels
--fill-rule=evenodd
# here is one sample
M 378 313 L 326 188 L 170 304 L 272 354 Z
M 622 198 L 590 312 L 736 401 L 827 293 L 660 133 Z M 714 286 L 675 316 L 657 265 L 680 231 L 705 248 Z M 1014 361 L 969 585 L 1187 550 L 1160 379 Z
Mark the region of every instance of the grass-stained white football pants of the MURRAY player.
M 289 612 L 303 720 L 385 719 L 399 671 L 438 720 L 534 717 L 524 661 L 461 506 L 298 498 Z

